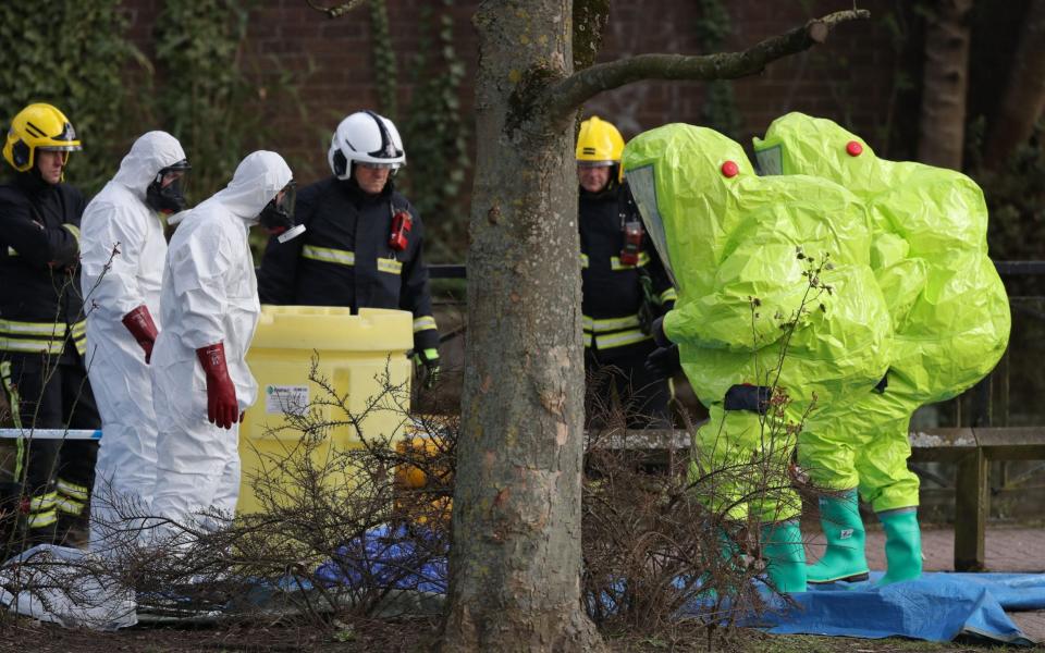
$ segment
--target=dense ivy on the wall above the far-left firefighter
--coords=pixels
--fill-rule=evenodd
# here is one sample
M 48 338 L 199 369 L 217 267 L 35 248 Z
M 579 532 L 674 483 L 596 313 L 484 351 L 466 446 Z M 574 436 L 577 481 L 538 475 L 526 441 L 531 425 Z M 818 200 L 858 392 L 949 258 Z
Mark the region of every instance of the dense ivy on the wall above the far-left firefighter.
M 30 102 L 58 107 L 73 123 L 83 151 L 70 157 L 66 181 L 97 192 L 116 171 L 124 144 L 125 64 L 143 56 L 123 36 L 119 0 L 0 2 L 0 121 Z M 7 163 L 2 163 L 9 169 Z

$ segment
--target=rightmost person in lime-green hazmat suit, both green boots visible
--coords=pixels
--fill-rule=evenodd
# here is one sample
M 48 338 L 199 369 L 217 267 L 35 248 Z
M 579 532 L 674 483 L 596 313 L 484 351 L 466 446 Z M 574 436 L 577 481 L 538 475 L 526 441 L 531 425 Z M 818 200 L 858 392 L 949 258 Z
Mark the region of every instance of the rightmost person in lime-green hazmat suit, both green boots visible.
M 1009 305 L 987 258 L 983 194 L 959 172 L 880 159 L 855 134 L 801 113 L 774 121 L 754 149 L 764 174 L 829 180 L 864 202 L 873 231 L 871 264 L 895 332 L 877 392 L 848 411 L 813 416 L 799 435 L 800 465 L 815 484 L 833 491 L 820 500 L 827 545 L 809 567 L 809 581 L 865 577 L 858 490 L 886 534 L 887 570 L 880 582 L 918 578 L 919 481 L 907 467 L 911 414 L 973 385 L 1008 344 Z

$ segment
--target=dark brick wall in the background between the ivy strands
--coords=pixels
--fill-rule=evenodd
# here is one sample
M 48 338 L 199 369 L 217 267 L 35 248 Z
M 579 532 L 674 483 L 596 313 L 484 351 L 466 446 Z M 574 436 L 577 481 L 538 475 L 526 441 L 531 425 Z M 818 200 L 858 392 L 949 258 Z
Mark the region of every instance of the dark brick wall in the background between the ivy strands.
M 396 50 L 401 110 L 410 88 L 407 66 L 419 47 L 417 16 L 429 0 L 388 0 L 392 42 Z M 328 4 L 334 0 L 325 0 Z M 147 56 L 152 54 L 151 28 L 162 0 L 126 0 L 131 37 Z M 460 0 L 454 8 L 455 46 L 472 77 L 477 40 L 470 16 L 478 3 Z M 861 7 L 880 19 L 895 11 L 888 0 L 865 0 Z M 806 7 L 810 5 L 809 13 Z M 727 49 L 737 50 L 767 36 L 801 25 L 809 17 L 849 7 L 848 2 L 729 0 L 733 36 Z M 613 2 L 612 17 L 600 60 L 641 52 L 699 53 L 693 25 L 699 19 L 694 2 L 642 0 Z M 811 53 L 775 63 L 760 76 L 735 83 L 737 110 L 750 135 L 787 111 L 798 110 L 850 124 L 872 139 L 889 114 L 897 64 L 889 34 L 881 20 L 845 25 L 827 44 Z M 366 7 L 337 20 L 328 20 L 305 0 L 262 0 L 251 13 L 245 59 L 259 70 L 272 61 L 300 77 L 300 112 L 288 98 L 259 94 L 258 110 L 271 115 L 280 141 L 263 144 L 284 153 L 303 182 L 327 173 L 325 150 L 337 121 L 353 111 L 373 108 L 374 93 L 370 20 Z M 665 122 L 701 121 L 703 85 L 693 82 L 646 82 L 605 93 L 586 107 L 620 127 L 625 137 Z M 469 111 L 472 89 L 462 90 Z M 406 144 L 409 152 L 409 144 Z M 881 148 L 880 148 L 881 149 Z

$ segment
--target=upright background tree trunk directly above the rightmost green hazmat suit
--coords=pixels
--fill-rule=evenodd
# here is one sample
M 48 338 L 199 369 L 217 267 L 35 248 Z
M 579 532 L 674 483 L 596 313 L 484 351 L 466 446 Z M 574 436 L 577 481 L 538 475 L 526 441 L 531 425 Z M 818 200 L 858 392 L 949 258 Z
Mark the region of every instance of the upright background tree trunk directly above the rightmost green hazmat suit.
M 969 85 L 972 0 L 936 0 L 925 26 L 925 70 L 918 158 L 961 170 Z

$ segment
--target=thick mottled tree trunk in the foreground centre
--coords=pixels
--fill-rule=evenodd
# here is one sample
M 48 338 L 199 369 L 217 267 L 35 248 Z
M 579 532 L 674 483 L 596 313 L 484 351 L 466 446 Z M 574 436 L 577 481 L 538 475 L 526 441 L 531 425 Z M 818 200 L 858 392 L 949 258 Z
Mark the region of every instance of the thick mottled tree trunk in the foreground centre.
M 484 2 L 446 651 L 598 651 L 580 603 L 583 361 L 570 3 Z

